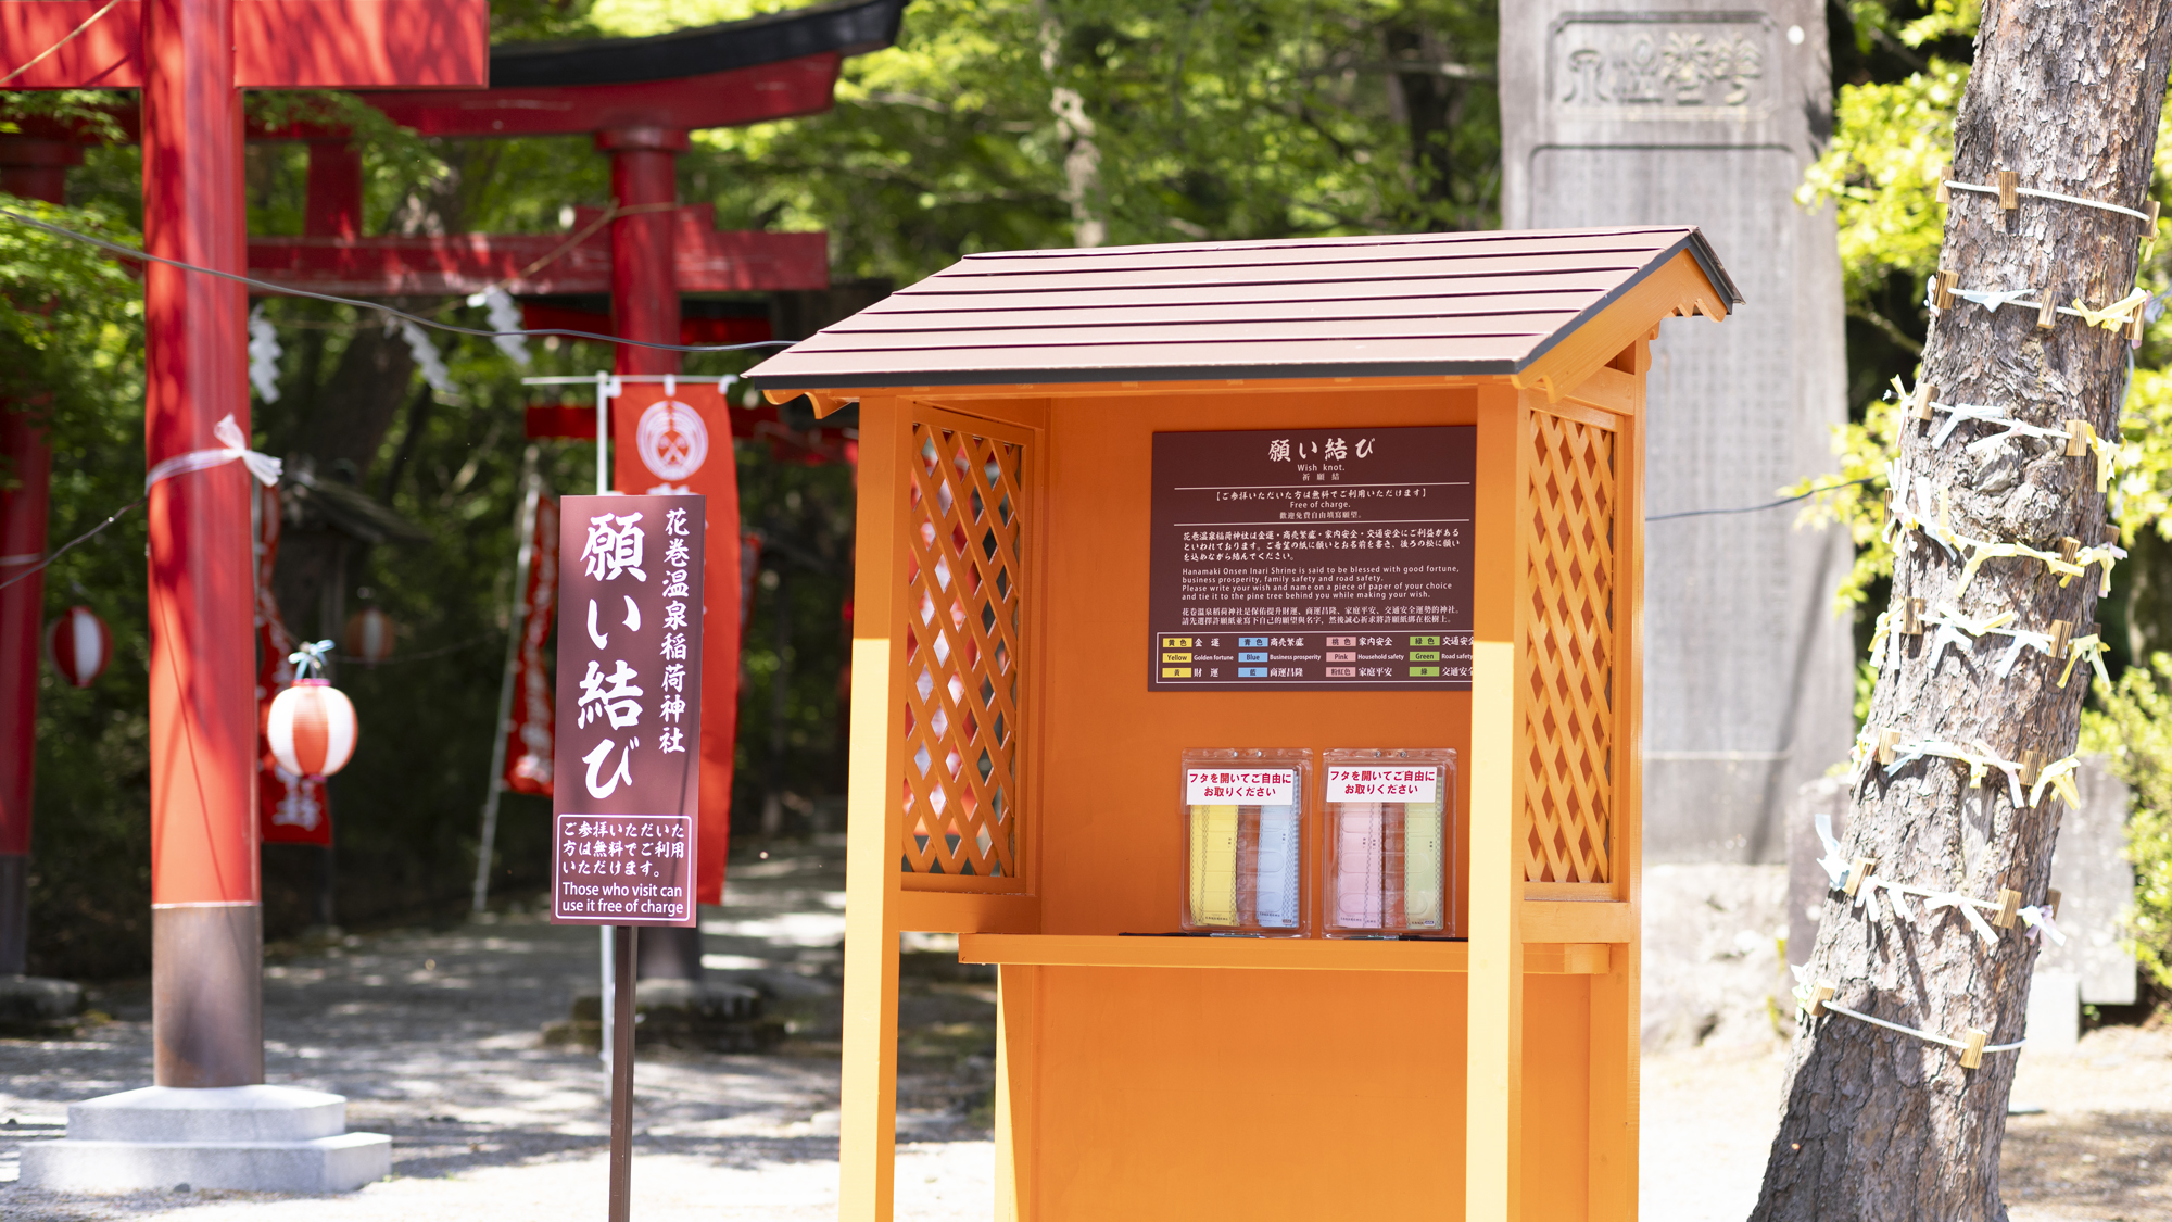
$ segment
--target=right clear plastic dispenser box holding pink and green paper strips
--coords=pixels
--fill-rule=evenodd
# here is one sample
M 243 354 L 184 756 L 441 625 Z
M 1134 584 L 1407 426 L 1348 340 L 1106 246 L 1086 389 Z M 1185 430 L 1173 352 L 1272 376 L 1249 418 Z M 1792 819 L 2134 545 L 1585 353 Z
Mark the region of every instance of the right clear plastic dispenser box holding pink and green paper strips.
M 1329 750 L 1327 937 L 1451 937 L 1455 924 L 1455 752 Z

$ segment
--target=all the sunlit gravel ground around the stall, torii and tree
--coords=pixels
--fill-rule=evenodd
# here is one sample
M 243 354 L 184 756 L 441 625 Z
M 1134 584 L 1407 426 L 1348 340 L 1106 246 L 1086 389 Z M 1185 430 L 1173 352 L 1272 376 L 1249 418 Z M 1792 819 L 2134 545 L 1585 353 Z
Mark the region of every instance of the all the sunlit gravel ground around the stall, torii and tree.
M 791 1039 L 760 1057 L 641 1052 L 636 1218 L 836 1215 L 838 857 L 830 848 L 734 863 L 728 905 L 704 911 L 712 974 L 762 989 L 771 1013 L 791 1022 Z M 508 913 L 493 924 L 274 948 L 267 1078 L 339 1092 L 350 1100 L 350 1129 L 393 1135 L 393 1179 L 330 1198 L 17 1187 L 20 1144 L 61 1135 L 70 1100 L 150 1081 L 148 994 L 109 987 L 96 1005 L 113 1020 L 76 1039 L 0 1039 L 0 1218 L 599 1215 L 602 1070 L 593 1052 L 541 1039 L 576 992 L 595 989 L 595 942 L 586 928 Z M 910 950 L 897 1215 L 982 1222 L 993 1215 L 995 989 L 958 970 L 940 942 Z M 1772 1042 L 1712 1039 L 1646 1055 L 1646 1218 L 1733 1222 L 1748 1213 L 1783 1068 Z M 2013 1102 L 2044 1109 L 2009 1120 L 2013 1222 L 2172 1222 L 2172 1028 L 2102 1028 L 2070 1057 L 2024 1052 Z

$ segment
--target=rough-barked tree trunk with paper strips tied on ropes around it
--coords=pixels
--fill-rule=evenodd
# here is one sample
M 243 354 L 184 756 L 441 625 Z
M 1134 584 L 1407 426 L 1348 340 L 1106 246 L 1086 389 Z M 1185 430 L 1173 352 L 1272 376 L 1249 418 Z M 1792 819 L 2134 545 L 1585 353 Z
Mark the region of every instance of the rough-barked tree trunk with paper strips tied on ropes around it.
M 2061 191 L 2139 209 L 2150 183 L 2150 152 L 2172 67 L 2172 0 L 2042 4 L 1992 0 L 1977 35 L 1977 61 L 1955 126 L 1955 180 L 1996 185 L 1998 170 L 2020 187 Z M 2011 217 L 2011 220 L 2009 220 Z M 2102 209 L 2020 196 L 2005 213 L 1996 196 L 1953 191 L 1940 267 L 1959 289 L 2029 289 L 2059 304 L 2081 298 L 2105 307 L 2129 294 L 2144 224 Z M 1922 381 L 1940 404 L 2009 407 L 2013 420 L 2063 428 L 2087 420 L 2118 437 L 2126 370 L 2122 333 L 2059 315 L 2037 328 L 2037 311 L 1955 300 L 1931 324 Z M 1950 531 L 1966 539 L 2018 541 L 2059 552 L 2061 537 L 2096 544 L 2105 494 L 2096 459 L 2063 457 L 2057 439 L 2007 437 L 2003 426 L 1959 424 L 1944 444 L 1948 413 L 1907 420 L 1898 465 L 1909 483 L 1950 502 Z M 1981 441 L 1981 444 L 1979 444 Z M 1937 531 L 1937 513 L 1931 515 Z M 1896 528 L 1887 622 L 1920 598 L 1927 615 L 1953 607 L 1972 622 L 2013 611 L 2013 628 L 2048 633 L 2096 618 L 2102 568 L 2061 585 L 2040 559 L 1990 559 L 1961 589 L 1963 561 L 1924 528 Z M 1998 678 L 2009 637 L 1961 637 L 1940 648 L 1940 628 L 1901 635 L 1898 661 L 1879 676 L 1866 739 L 1898 731 L 1894 763 L 1861 765 L 1842 861 L 1872 859 L 1872 878 L 1998 900 L 2020 891 L 2042 905 L 2061 805 L 2044 791 L 2033 807 L 2009 798 L 2009 778 L 1992 765 L 1981 787 L 1970 768 L 1940 755 L 1909 759 L 1909 744 L 1953 744 L 1998 761 L 2074 750 L 2087 691 L 2087 661 L 2059 685 L 2066 659 L 2029 650 Z M 1859 748 L 1861 750 L 1861 748 Z M 1963 915 L 1946 907 L 1870 918 L 1838 887 L 1827 894 L 1818 946 L 1805 985 L 1835 985 L 1833 1002 L 1901 1026 L 1990 1044 L 2022 1039 L 2037 944 L 2022 926 L 1994 928 L 1985 946 Z M 1987 920 L 1994 913 L 1983 913 Z M 2003 1220 L 1998 1146 L 2016 1052 L 1990 1052 L 1963 1070 L 1961 1052 L 1885 1031 L 1851 1015 L 1805 1018 L 1788 1065 L 1785 1113 L 1766 1163 L 1753 1218 L 1848 1220 Z

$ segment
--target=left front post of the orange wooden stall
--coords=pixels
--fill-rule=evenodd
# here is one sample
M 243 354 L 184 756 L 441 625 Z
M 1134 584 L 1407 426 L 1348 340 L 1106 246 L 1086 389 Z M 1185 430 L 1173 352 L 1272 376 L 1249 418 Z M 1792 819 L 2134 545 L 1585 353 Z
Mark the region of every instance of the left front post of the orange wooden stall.
M 838 1107 L 841 1222 L 891 1222 L 897 1174 L 897 844 L 904 613 L 899 500 L 910 422 L 897 400 L 860 404 L 858 583 L 851 620 L 851 794 L 845 848 L 845 1052 Z

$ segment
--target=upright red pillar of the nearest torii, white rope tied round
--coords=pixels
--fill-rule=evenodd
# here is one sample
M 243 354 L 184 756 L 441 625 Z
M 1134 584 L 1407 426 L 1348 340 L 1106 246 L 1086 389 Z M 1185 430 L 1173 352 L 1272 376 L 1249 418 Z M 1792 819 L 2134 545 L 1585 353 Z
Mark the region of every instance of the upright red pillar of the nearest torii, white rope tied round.
M 143 246 L 248 267 L 232 0 L 143 0 Z M 146 463 L 250 433 L 248 296 L 143 270 Z M 261 1083 L 263 905 L 250 491 L 239 463 L 150 489 L 152 1068 L 161 1087 Z

